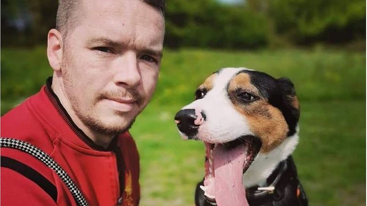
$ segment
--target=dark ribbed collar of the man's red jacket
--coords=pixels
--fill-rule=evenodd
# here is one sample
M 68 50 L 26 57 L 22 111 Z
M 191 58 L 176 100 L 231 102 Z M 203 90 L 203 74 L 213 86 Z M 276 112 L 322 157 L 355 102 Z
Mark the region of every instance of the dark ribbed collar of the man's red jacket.
M 52 77 L 49 77 L 46 80 L 46 86 L 45 86 L 45 92 L 47 97 L 50 99 L 52 105 L 55 107 L 55 109 L 59 112 L 60 116 L 63 118 L 63 120 L 67 123 L 67 125 L 73 130 L 73 132 L 89 147 L 92 149 L 98 150 L 98 151 L 113 151 L 117 147 L 117 137 L 115 137 L 107 149 L 104 147 L 100 147 L 92 141 L 91 138 L 89 138 L 71 119 L 69 114 L 66 112 L 65 108 L 62 106 L 59 97 L 56 95 L 56 93 L 51 88 L 52 85 Z

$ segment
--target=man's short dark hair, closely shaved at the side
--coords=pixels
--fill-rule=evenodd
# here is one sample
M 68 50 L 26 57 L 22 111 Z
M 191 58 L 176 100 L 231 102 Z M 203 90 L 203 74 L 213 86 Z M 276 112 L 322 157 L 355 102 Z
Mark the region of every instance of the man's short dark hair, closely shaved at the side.
M 165 0 L 141 0 L 153 8 L 162 12 L 164 16 Z M 56 14 L 56 29 L 58 29 L 64 38 L 67 31 L 75 28 L 78 23 L 78 15 L 81 10 L 81 0 L 59 0 L 58 11 Z

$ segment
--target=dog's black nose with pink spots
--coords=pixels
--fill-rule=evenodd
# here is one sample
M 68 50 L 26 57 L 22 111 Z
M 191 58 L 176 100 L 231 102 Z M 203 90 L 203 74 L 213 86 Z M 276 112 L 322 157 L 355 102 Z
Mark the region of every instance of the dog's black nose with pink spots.
M 195 109 L 180 110 L 175 116 L 177 127 L 189 138 L 197 134 L 199 125 L 204 120 L 205 115 L 202 112 L 196 114 Z

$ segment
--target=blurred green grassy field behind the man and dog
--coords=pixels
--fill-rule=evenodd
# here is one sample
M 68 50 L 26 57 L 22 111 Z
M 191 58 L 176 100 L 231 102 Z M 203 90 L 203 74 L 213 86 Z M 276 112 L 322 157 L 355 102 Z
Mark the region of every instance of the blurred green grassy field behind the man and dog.
M 366 205 L 366 54 L 333 50 L 165 50 L 152 102 L 131 133 L 141 157 L 142 206 L 192 206 L 204 146 L 181 140 L 175 113 L 220 67 L 287 76 L 301 104 L 294 152 L 310 206 Z M 1 50 L 1 114 L 52 75 L 44 47 Z

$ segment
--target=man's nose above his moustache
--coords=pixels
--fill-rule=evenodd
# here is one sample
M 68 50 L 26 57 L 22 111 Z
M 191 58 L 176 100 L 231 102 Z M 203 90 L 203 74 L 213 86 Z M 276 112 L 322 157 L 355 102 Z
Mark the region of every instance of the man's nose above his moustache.
M 129 88 L 135 88 L 141 83 L 141 73 L 138 60 L 134 52 L 125 52 L 115 64 L 117 73 L 115 74 L 115 83 L 125 85 Z

